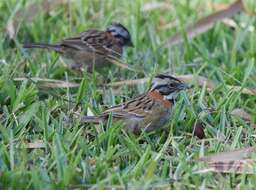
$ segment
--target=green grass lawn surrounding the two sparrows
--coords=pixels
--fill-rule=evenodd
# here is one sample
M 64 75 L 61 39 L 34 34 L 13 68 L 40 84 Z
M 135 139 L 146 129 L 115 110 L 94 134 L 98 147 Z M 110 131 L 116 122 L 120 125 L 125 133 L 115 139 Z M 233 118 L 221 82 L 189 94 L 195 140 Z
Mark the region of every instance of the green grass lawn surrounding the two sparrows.
M 0 27 L 30 1 L 0 2 Z M 255 175 L 194 174 L 199 155 L 255 146 L 255 130 L 230 115 L 242 108 L 256 120 L 256 96 L 232 92 L 226 85 L 256 86 L 255 17 L 244 13 L 233 19 L 240 26 L 231 29 L 218 23 L 191 42 L 165 49 L 163 42 L 177 31 L 211 12 L 206 1 L 166 1 L 169 9 L 142 12 L 150 1 L 77 0 L 58 6 L 49 14 L 19 22 L 17 36 L 10 40 L 0 33 L 0 188 L 127 188 L 242 189 L 256 186 Z M 217 2 L 217 1 L 216 1 Z M 218 1 L 227 2 L 227 1 Z M 67 69 L 57 54 L 24 51 L 25 41 L 58 42 L 88 28 L 104 29 L 112 21 L 129 28 L 135 48 L 124 59 L 143 68 L 135 73 L 112 67 L 104 75 L 111 81 L 152 77 L 156 73 L 194 74 L 215 81 L 208 91 L 197 85 L 179 96 L 173 117 L 151 134 L 127 134 L 120 124 L 108 127 L 81 126 L 74 112 L 87 108 L 96 114 L 105 106 L 144 92 L 148 84 L 115 89 L 98 87 L 99 73 L 78 75 Z M 175 27 L 164 28 L 173 23 Z M 248 30 L 254 26 L 254 31 Z M 3 30 L 4 31 L 4 30 Z M 40 77 L 80 83 L 79 88 L 50 89 L 31 80 Z M 205 108 L 216 109 L 209 114 Z M 73 118 L 68 122 L 67 118 Z M 206 137 L 192 136 L 201 120 Z M 27 143 L 43 140 L 45 148 L 28 149 Z

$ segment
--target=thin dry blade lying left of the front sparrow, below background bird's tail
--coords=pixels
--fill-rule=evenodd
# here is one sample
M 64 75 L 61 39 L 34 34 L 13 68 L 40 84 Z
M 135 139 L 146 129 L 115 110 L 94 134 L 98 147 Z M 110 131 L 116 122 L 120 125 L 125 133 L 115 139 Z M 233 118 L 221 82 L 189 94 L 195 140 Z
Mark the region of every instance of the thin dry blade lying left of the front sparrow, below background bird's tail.
M 48 88 L 77 88 L 80 85 L 73 82 L 67 82 L 62 80 L 55 80 L 55 79 L 46 79 L 46 78 L 38 78 L 38 77 L 32 77 L 32 78 L 14 78 L 14 81 L 24 81 L 24 80 L 31 80 L 35 83 L 41 83 L 42 86 L 48 87 Z

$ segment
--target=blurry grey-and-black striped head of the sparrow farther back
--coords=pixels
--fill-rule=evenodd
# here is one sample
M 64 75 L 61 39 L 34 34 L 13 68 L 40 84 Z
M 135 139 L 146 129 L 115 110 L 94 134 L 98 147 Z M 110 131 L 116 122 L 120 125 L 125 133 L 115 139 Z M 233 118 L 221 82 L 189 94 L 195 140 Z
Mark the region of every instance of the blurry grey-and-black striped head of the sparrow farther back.
M 129 31 L 120 23 L 112 23 L 108 28 L 107 32 L 110 32 L 116 38 L 123 40 L 124 45 L 132 45 L 131 35 Z

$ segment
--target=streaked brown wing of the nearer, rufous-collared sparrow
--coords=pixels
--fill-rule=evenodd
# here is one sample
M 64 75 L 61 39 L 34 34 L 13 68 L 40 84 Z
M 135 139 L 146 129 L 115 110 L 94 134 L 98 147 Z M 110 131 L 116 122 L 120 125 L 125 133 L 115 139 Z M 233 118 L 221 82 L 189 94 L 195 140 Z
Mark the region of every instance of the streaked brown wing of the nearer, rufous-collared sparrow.
M 143 94 L 123 104 L 113 106 L 106 110 L 103 114 L 109 114 L 112 112 L 112 116 L 118 118 L 144 118 L 148 112 L 150 112 L 151 107 L 154 104 L 154 99 L 147 96 L 146 94 Z

